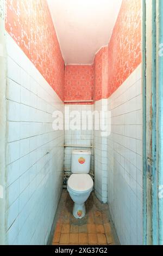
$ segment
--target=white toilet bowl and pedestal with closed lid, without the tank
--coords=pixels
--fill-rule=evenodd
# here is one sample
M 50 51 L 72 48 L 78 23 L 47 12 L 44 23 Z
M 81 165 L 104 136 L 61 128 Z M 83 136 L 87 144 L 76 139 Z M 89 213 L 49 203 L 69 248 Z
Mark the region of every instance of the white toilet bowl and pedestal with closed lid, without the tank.
M 67 182 L 67 190 L 74 201 L 73 216 L 82 219 L 85 216 L 85 201 L 93 189 L 93 180 L 89 174 L 72 174 Z

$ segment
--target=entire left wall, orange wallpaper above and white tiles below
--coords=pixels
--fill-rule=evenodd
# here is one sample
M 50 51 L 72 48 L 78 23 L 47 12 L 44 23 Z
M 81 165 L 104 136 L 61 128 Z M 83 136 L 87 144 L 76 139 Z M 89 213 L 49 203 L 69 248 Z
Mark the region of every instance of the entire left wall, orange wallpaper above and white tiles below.
M 47 1 L 5 3 L 6 243 L 43 245 L 62 188 L 64 131 L 53 130 L 52 113 L 64 112 L 64 59 Z

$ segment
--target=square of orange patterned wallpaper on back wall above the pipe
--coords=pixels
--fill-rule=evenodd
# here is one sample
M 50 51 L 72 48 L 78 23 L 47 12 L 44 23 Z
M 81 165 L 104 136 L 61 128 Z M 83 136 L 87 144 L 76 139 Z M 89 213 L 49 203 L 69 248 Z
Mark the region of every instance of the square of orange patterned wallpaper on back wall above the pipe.
M 65 67 L 65 100 L 92 100 L 93 92 L 94 70 L 91 65 Z

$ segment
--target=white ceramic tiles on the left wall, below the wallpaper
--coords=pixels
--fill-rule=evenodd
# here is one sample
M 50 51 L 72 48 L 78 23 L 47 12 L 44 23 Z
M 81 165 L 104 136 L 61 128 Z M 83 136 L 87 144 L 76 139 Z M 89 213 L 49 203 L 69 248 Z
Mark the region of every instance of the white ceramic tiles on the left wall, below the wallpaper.
M 45 245 L 62 188 L 64 131 L 52 128 L 64 104 L 7 35 L 8 245 Z

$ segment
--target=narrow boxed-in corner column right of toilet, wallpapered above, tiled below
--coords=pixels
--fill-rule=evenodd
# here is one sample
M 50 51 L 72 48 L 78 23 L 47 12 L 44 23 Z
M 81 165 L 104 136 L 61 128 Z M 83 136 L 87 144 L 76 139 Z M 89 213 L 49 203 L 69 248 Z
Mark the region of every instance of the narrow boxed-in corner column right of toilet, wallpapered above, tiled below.
M 96 53 L 93 64 L 95 72 L 95 111 L 100 114 L 107 105 L 108 97 L 108 47 Z M 100 119 L 102 121 L 102 119 Z M 107 202 L 107 138 L 101 130 L 94 131 L 95 143 L 95 193 L 103 203 Z

